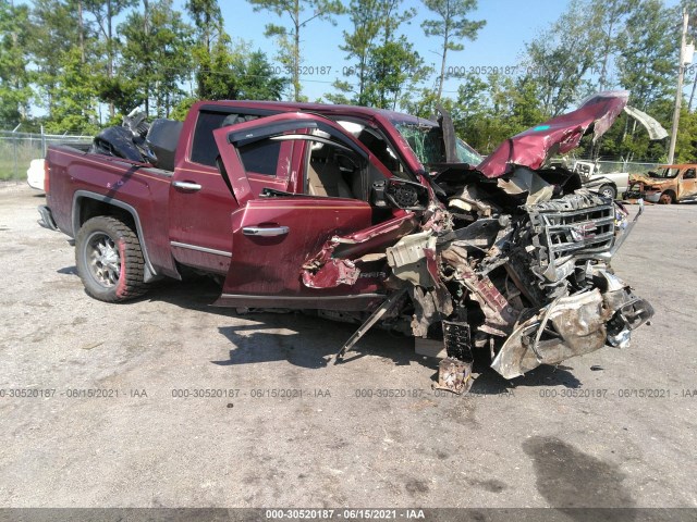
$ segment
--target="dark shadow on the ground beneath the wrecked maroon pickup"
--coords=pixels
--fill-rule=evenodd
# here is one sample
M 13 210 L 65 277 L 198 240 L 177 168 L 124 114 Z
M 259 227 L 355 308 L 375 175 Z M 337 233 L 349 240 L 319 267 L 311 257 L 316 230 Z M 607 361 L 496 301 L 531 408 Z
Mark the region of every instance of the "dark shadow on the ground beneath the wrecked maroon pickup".
M 77 276 L 75 266 L 65 266 L 58 273 Z M 166 302 L 187 310 L 244 320 L 246 324 L 218 328 L 220 334 L 234 345 L 230 349 L 229 359 L 211 361 L 222 366 L 285 360 L 302 368 L 326 368 L 334 363 L 333 356 L 358 327 L 358 324 L 315 316 L 311 311 L 279 310 L 237 313 L 232 308 L 213 307 L 212 303 L 219 296 L 220 285 L 210 277 L 188 276 L 181 282 L 174 279 L 156 282 L 146 296 L 130 303 Z M 265 330 L 269 332 L 264 332 Z M 416 355 L 411 337 L 375 327 L 346 353 L 340 364 L 348 369 L 352 361 L 366 356 L 389 359 L 395 365 L 420 364 L 432 370 L 432 381 L 438 381 L 439 360 Z M 475 353 L 474 373 L 478 376 L 474 381 L 470 394 L 501 395 L 517 386 L 561 385 L 567 388 L 582 386 L 582 383 L 570 373 L 568 370 L 573 370 L 570 366 L 542 365 L 522 377 L 509 381 L 490 369 L 489 364 L 488 352 Z

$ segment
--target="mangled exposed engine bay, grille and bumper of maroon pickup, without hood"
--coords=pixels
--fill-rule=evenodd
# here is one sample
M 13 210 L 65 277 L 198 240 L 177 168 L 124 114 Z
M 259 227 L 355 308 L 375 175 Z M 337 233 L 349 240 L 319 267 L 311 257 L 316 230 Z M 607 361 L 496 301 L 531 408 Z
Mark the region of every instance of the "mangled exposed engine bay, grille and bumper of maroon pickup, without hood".
M 415 336 L 443 338 L 450 358 L 469 363 L 473 348 L 488 348 L 506 378 L 628 344 L 653 311 L 610 266 L 627 212 L 587 189 L 565 191 L 578 186 L 574 174 L 554 174 L 566 183 L 518 170 L 486 189 L 444 184 L 450 211 L 431 209 L 420 232 L 388 248 L 394 277 L 414 285 Z M 536 188 L 511 188 L 523 184 Z

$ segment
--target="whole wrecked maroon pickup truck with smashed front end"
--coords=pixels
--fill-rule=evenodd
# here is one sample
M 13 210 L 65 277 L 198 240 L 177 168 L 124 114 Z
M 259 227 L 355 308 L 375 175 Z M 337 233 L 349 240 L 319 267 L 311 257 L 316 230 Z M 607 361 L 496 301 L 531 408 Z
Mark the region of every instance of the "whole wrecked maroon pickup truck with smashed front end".
M 472 383 L 473 350 L 510 378 L 624 347 L 653 313 L 610 260 L 625 209 L 546 166 L 601 136 L 604 92 L 486 160 L 439 122 L 347 105 L 199 102 L 183 124 L 130 119 L 93 150 L 49 148 L 44 226 L 75 238 L 87 293 L 143 295 L 183 268 L 222 281 L 218 306 L 317 310 L 442 339 L 440 383 Z M 638 217 L 638 215 L 637 215 Z

